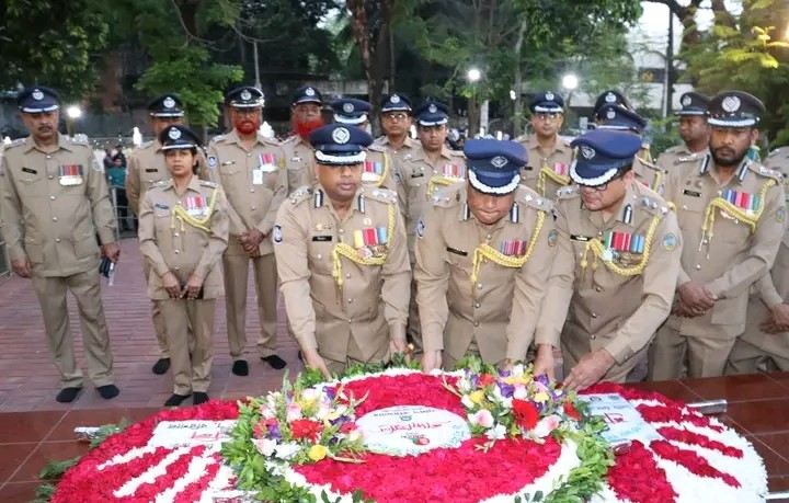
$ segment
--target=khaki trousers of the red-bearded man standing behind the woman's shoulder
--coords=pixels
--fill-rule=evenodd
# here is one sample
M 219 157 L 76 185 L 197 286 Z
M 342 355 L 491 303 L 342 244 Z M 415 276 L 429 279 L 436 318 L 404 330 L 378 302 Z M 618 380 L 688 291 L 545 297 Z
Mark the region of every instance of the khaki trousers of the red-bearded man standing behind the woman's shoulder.
M 231 241 L 235 238 L 230 238 Z M 239 250 L 241 254 L 239 254 Z M 276 354 L 277 330 L 277 272 L 274 254 L 251 259 L 238 243 L 231 244 L 222 256 L 225 267 L 225 299 L 227 302 L 227 328 L 230 356 L 244 359 L 247 347 L 247 281 L 249 263 L 254 271 L 258 294 L 258 316 L 261 334 L 258 339 L 260 356 Z

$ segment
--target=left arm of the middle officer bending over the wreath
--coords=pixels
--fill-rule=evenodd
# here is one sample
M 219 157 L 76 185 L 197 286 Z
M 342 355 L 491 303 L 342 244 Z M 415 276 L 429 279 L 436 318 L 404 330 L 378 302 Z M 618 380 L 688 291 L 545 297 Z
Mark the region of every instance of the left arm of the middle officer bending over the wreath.
M 416 302 L 422 324 L 424 351 L 444 350 L 444 329 L 449 318 L 447 290 L 449 289 L 449 264 L 446 260 L 444 232 L 435 207 L 425 213 L 424 232 L 416 238 Z M 471 285 L 469 284 L 469 287 Z

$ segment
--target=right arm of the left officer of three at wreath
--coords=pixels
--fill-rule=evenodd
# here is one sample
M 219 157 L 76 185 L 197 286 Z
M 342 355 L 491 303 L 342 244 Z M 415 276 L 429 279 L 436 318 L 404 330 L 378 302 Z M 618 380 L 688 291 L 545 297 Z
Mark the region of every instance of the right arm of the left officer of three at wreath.
M 381 267 L 381 300 L 384 318 L 389 325 L 389 339 L 405 341 L 409 302 L 411 301 L 411 264 L 409 263 L 405 226 L 400 212 L 395 209 L 395 232 L 389 242 L 389 254 Z

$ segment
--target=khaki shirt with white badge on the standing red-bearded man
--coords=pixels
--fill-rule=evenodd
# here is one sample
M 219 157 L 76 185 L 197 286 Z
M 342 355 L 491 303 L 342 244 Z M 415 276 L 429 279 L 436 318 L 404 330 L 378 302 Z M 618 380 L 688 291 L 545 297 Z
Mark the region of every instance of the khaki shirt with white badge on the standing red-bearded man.
M 247 151 L 236 130 L 217 136 L 208 145 L 208 176 L 227 195 L 231 237 L 252 229 L 271 233 L 276 212 L 287 198 L 285 153 L 279 144 L 259 134 Z M 274 253 L 268 239 L 261 241 L 259 250 L 261 255 Z

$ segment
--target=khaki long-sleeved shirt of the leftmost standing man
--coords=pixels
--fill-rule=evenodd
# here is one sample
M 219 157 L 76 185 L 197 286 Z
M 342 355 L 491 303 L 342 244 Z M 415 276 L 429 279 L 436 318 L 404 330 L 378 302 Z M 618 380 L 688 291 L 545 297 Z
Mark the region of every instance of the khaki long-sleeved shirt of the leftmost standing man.
M 11 260 L 36 276 L 70 276 L 99 266 L 96 233 L 115 242 L 117 220 L 104 167 L 85 141 L 58 135 L 46 153 L 32 138 L 5 148 L 0 165 L 0 222 Z

